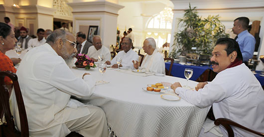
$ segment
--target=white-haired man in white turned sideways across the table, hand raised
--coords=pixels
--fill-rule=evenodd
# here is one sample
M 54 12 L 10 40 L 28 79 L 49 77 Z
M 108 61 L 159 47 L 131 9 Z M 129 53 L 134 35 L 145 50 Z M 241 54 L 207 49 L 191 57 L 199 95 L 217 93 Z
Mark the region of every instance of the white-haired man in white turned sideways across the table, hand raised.
M 156 49 L 154 38 L 146 38 L 142 48 L 147 55 L 144 57 L 139 69 L 145 69 L 146 72 L 165 74 L 165 62 L 158 49 Z M 134 63 L 134 68 L 138 69 L 138 61 L 132 62 Z

